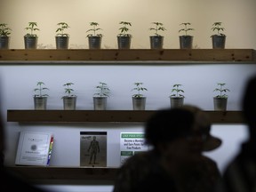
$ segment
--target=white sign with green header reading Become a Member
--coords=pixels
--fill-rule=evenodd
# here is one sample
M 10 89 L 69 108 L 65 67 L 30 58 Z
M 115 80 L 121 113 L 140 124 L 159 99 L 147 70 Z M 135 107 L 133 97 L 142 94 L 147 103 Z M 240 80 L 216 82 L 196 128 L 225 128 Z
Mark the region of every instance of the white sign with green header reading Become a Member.
M 120 133 L 120 164 L 133 156 L 135 153 L 148 150 L 145 144 L 144 132 L 121 132 Z

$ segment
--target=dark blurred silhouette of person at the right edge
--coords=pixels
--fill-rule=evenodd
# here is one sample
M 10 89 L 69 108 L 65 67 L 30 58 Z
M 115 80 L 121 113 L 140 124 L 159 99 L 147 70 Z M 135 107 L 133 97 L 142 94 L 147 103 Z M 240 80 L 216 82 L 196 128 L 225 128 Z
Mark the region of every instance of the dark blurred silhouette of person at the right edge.
M 251 76 L 244 86 L 242 108 L 249 138 L 228 163 L 216 192 L 256 191 L 256 76 Z

